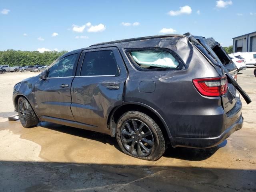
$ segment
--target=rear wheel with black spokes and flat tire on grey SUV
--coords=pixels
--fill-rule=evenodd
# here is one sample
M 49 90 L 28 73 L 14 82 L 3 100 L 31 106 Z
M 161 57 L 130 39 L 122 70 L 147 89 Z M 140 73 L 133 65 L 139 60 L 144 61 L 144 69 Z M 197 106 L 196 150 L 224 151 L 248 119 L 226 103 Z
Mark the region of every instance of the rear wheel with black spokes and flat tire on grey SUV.
M 161 129 L 148 115 L 138 111 L 128 111 L 118 120 L 116 139 L 125 154 L 155 161 L 166 150 Z

